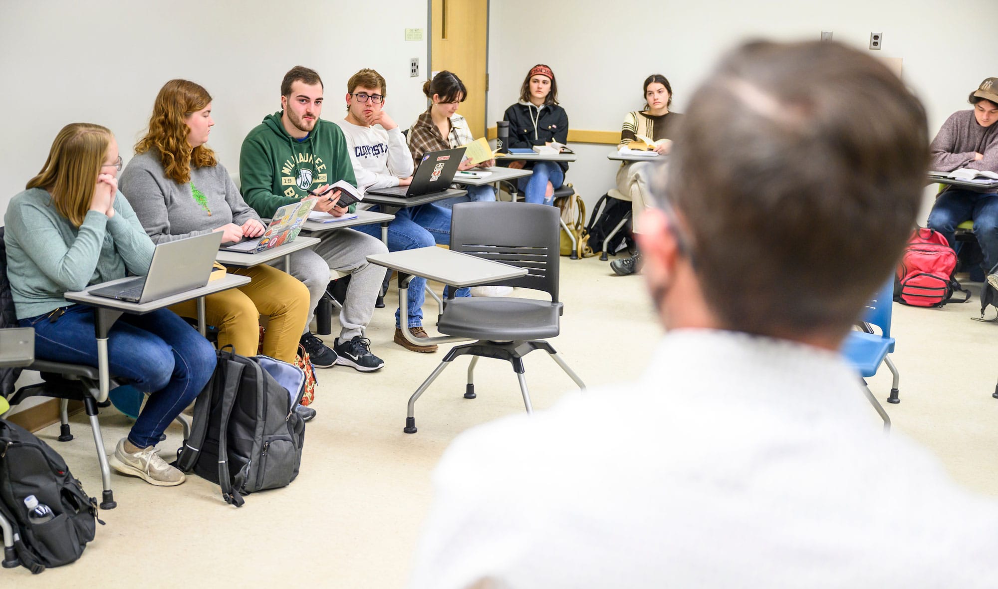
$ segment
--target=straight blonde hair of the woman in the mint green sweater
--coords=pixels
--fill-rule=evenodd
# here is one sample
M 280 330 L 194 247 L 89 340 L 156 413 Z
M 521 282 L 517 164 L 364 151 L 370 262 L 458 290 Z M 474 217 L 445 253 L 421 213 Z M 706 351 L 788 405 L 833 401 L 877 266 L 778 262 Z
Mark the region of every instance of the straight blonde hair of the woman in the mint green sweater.
M 113 137 L 110 129 L 93 123 L 63 127 L 52 142 L 42 171 L 25 188 L 49 191 L 56 211 L 74 227 L 80 227 L 90 210 L 97 177 Z

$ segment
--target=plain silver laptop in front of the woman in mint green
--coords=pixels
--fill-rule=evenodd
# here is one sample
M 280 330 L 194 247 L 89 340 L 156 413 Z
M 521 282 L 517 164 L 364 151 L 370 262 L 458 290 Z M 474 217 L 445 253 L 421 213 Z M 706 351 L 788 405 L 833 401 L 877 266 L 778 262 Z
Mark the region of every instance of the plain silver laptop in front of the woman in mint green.
M 208 284 L 215 256 L 222 243 L 222 232 L 160 244 L 153 252 L 149 274 L 110 287 L 87 291 L 129 302 L 150 302 L 177 295 Z

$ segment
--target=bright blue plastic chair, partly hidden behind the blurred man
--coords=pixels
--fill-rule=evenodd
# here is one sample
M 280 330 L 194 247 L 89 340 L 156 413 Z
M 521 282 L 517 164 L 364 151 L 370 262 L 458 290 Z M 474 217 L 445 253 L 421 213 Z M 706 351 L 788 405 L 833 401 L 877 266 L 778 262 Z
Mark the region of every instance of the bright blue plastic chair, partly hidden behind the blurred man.
M 894 362 L 890 360 L 889 354 L 894 351 L 894 338 L 890 336 L 890 314 L 894 303 L 894 279 L 889 281 L 873 295 L 873 298 L 866 305 L 866 315 L 860 322 L 861 331 L 850 331 L 842 342 L 842 355 L 845 360 L 859 372 L 862 378 L 868 378 L 876 374 L 881 363 L 886 363 L 894 376 L 890 388 L 890 396 L 887 397 L 889 403 L 899 403 L 901 399 L 897 396 L 897 384 L 899 375 Z M 880 333 L 874 333 L 871 325 L 880 327 Z M 876 397 L 870 391 L 866 381 L 863 380 L 863 390 L 870 404 L 876 409 L 883 419 L 884 430 L 890 430 L 890 417 L 883 410 Z

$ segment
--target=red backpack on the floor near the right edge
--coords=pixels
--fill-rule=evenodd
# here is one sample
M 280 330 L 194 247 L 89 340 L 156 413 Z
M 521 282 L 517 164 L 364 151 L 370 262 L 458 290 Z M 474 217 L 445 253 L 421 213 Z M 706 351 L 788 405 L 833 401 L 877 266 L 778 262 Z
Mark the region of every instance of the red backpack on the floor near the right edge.
M 897 266 L 894 300 L 913 306 L 942 306 L 959 292 L 965 297 L 954 302 L 966 302 L 970 293 L 953 280 L 955 272 L 956 253 L 946 238 L 937 231 L 918 228 Z

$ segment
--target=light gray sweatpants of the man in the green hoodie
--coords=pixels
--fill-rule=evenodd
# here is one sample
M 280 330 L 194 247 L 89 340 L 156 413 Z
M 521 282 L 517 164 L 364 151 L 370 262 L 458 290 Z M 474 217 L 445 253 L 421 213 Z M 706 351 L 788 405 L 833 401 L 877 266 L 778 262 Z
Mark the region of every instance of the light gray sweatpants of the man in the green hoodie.
M 312 250 L 291 254 L 290 275 L 308 289 L 308 316 L 311 317 L 319 298 L 329 284 L 329 269 L 349 273 L 350 288 L 346 290 L 343 309 L 339 313 L 339 340 L 347 341 L 360 335 L 374 312 L 384 273 L 387 269 L 367 263 L 372 254 L 385 254 L 388 248 L 380 240 L 352 229 L 337 229 L 311 234 L 321 241 Z M 279 268 L 283 265 L 277 262 Z M 305 330 L 308 326 L 305 325 Z

